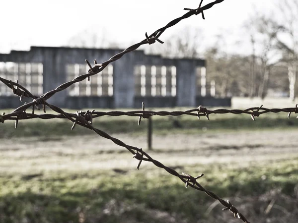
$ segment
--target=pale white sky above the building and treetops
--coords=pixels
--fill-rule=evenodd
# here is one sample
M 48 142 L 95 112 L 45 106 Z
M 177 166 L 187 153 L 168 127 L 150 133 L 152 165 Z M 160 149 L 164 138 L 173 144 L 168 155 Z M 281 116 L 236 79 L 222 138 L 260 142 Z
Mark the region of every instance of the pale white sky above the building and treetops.
M 204 0 L 203 5 L 209 2 L 212 0 Z M 202 29 L 206 44 L 212 44 L 214 35 L 223 33 L 228 46 L 235 49 L 232 45 L 243 35 L 239 30 L 243 22 L 255 10 L 268 10 L 271 2 L 224 0 L 205 11 L 206 20 L 201 15 L 191 16 L 165 31 L 160 39 L 165 40 L 184 26 L 193 26 Z M 200 0 L 2 0 L 0 53 L 29 50 L 30 46 L 65 46 L 84 29 L 99 36 L 105 33 L 111 42 L 126 48 L 145 39 L 145 32 L 151 34 L 186 13 L 184 7 L 196 8 L 199 3 Z

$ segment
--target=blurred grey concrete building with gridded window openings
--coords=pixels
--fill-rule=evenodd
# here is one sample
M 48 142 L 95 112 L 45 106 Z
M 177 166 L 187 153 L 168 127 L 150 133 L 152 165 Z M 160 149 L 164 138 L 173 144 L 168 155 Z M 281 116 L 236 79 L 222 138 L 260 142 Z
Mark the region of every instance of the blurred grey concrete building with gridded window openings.
M 118 49 L 66 47 L 11 51 L 0 54 L 0 76 L 18 80 L 32 94 L 40 96 L 86 73 L 85 59 L 102 62 L 120 52 Z M 194 107 L 198 102 L 230 106 L 230 100 L 229 104 L 225 100 L 222 105 L 221 99 L 204 98 L 208 95 L 204 70 L 203 59 L 169 59 L 133 51 L 91 76 L 90 82 L 86 79 L 75 83 L 48 102 L 70 109 L 132 108 L 141 107 L 142 102 L 146 107 Z M 21 104 L 12 91 L 0 83 L 0 108 L 15 108 Z

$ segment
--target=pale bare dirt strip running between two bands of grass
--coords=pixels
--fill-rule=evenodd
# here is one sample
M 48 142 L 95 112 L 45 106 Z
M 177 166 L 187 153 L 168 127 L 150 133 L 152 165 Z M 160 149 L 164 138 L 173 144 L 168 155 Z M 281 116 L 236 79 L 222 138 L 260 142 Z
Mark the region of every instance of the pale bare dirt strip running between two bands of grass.
M 153 135 L 153 151 L 146 136 L 112 135 L 143 148 L 166 166 L 226 163 L 251 166 L 254 162 L 298 157 L 298 130 L 213 132 L 201 135 Z M 83 137 L 2 139 L 0 172 L 136 168 L 138 161 L 125 148 L 90 135 Z M 151 166 L 148 166 L 151 165 Z M 152 167 L 144 162 L 142 166 Z M 156 167 L 154 167 L 156 168 Z

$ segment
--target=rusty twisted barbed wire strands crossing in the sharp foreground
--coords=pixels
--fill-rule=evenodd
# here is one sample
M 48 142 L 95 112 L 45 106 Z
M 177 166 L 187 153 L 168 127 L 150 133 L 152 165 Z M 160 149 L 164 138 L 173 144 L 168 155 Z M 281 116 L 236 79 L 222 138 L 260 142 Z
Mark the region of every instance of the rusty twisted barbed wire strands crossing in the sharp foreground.
M 61 108 L 52 105 L 48 102 L 46 102 L 49 98 L 51 98 L 54 94 L 57 92 L 63 91 L 73 85 L 76 82 L 82 81 L 84 79 L 88 79 L 90 81 L 90 76 L 93 76 L 99 72 L 101 72 L 109 63 L 120 59 L 123 55 L 132 52 L 136 49 L 138 49 L 142 45 L 146 44 L 153 44 L 156 41 L 159 43 L 163 43 L 161 40 L 159 40 L 160 35 L 168 28 L 176 25 L 178 22 L 180 22 L 182 19 L 186 19 L 192 15 L 198 15 L 202 14 L 202 18 L 205 19 L 204 11 L 213 7 L 215 4 L 218 4 L 220 2 L 223 2 L 224 0 L 215 0 L 211 3 L 206 4 L 205 6 L 201 7 L 203 0 L 200 1 L 200 5 L 198 8 L 195 9 L 190 9 L 190 8 L 184 8 L 185 10 L 188 10 L 187 13 L 182 15 L 181 17 L 178 17 L 171 22 L 169 22 L 167 25 L 164 27 L 156 30 L 153 32 L 151 35 L 148 36 L 146 33 L 146 39 L 143 41 L 134 44 L 130 46 L 129 48 L 125 49 L 124 51 L 120 52 L 119 54 L 116 54 L 115 56 L 112 56 L 109 60 L 104 61 L 102 63 L 97 63 L 96 59 L 94 60 L 94 65 L 91 66 L 88 60 L 85 60 L 86 63 L 89 66 L 88 73 L 79 75 L 78 77 L 74 78 L 72 81 L 66 82 L 60 86 L 58 86 L 56 89 L 51 90 L 40 97 L 37 97 L 30 93 L 25 87 L 20 85 L 17 81 L 13 82 L 11 80 L 7 80 L 5 78 L 0 77 L 0 81 L 3 82 L 7 87 L 9 87 L 13 94 L 17 95 L 20 97 L 20 101 L 22 101 L 23 97 L 28 97 L 33 99 L 32 102 L 25 103 L 24 105 L 16 108 L 14 111 L 10 113 L 2 113 L 0 115 L 0 122 L 4 123 L 5 120 L 15 120 L 15 127 L 17 128 L 18 121 L 19 120 L 24 120 L 24 119 L 32 119 L 32 118 L 41 118 L 41 119 L 52 119 L 52 118 L 67 118 L 73 122 L 73 126 L 71 129 L 74 129 L 75 125 L 80 125 L 85 128 L 93 130 L 95 133 L 98 135 L 109 139 L 113 141 L 115 144 L 126 148 L 129 152 L 133 154 L 133 158 L 139 160 L 137 168 L 139 169 L 141 166 L 141 163 L 143 161 L 151 162 L 153 163 L 156 167 L 163 168 L 165 169 L 168 173 L 178 177 L 181 181 L 185 183 L 186 187 L 192 187 L 196 190 L 203 191 L 205 192 L 208 196 L 218 200 L 225 208 L 223 210 L 229 210 L 235 218 L 240 219 L 241 221 L 245 223 L 249 223 L 249 221 L 231 204 L 230 201 L 224 201 L 221 199 L 218 195 L 215 193 L 205 189 L 199 182 L 197 181 L 200 177 L 202 177 L 204 174 L 201 174 L 197 177 L 193 177 L 190 174 L 187 173 L 182 173 L 179 174 L 177 171 L 170 167 L 164 166 L 162 163 L 160 163 L 157 160 L 154 160 L 147 154 L 145 151 L 142 150 L 142 148 L 134 147 L 125 144 L 121 140 L 114 138 L 107 134 L 106 132 L 93 127 L 92 121 L 94 118 L 101 117 L 104 115 L 108 116 L 121 116 L 121 115 L 127 115 L 127 116 L 139 116 L 139 121 L 138 123 L 140 124 L 142 118 L 149 118 L 152 115 L 159 115 L 159 116 L 166 116 L 166 115 L 172 115 L 172 116 L 179 116 L 179 115 L 192 115 L 192 116 L 197 116 L 200 118 L 201 116 L 206 116 L 207 119 L 209 120 L 209 115 L 210 114 L 224 114 L 224 113 L 232 113 L 232 114 L 250 114 L 252 119 L 255 120 L 255 117 L 259 116 L 260 114 L 267 113 L 267 112 L 289 112 L 288 117 L 290 117 L 291 112 L 298 113 L 298 108 L 297 105 L 295 108 L 285 108 L 285 109 L 266 109 L 261 107 L 253 107 L 249 108 L 246 110 L 228 110 L 228 109 L 217 109 L 217 110 L 208 110 L 205 107 L 199 106 L 197 109 L 192 109 L 192 110 L 187 110 L 187 111 L 146 111 L 144 104 L 143 104 L 143 110 L 142 111 L 76 111 L 75 113 L 69 113 Z M 15 88 L 16 87 L 16 88 Z M 58 112 L 59 114 L 35 114 L 34 111 L 35 109 L 39 109 L 39 105 L 43 106 L 43 112 L 46 112 L 46 107 L 50 108 L 53 111 Z M 26 112 L 27 109 L 32 107 L 32 112 L 28 113 Z

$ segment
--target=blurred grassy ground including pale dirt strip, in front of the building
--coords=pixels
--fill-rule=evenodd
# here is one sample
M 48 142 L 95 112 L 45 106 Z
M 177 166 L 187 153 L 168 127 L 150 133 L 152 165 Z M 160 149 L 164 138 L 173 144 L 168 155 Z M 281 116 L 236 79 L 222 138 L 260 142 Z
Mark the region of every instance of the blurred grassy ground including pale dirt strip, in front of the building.
M 294 223 L 298 120 L 286 116 L 154 116 L 153 151 L 146 119 L 138 126 L 137 117 L 104 116 L 94 126 L 179 173 L 204 173 L 200 184 L 251 222 Z M 12 121 L 0 125 L 1 223 L 239 222 L 165 170 L 146 162 L 137 170 L 125 148 L 71 126 L 37 119 L 20 121 L 17 130 Z

